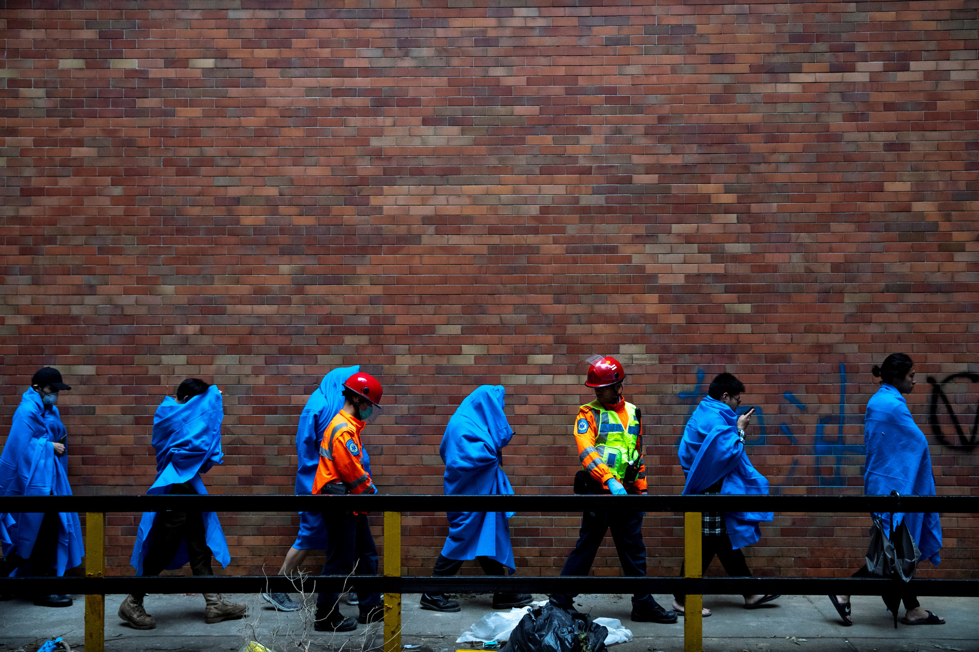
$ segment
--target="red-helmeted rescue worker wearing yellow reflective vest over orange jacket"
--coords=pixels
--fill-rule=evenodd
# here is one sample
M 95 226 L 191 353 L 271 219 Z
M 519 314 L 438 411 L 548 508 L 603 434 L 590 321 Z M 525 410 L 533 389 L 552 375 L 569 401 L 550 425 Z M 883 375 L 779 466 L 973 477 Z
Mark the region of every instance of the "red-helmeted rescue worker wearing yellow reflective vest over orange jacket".
M 622 394 L 626 370 L 614 357 L 602 357 L 588 368 L 587 387 L 595 400 L 582 405 L 575 420 L 575 440 L 583 472 L 575 479 L 576 493 L 646 493 L 642 461 L 642 414 Z M 605 533 L 612 530 L 619 561 L 627 577 L 646 577 L 646 545 L 642 542 L 644 512 L 584 512 L 575 549 L 561 575 L 585 576 L 591 570 Z M 555 593 L 552 604 L 574 610 L 574 594 Z M 632 621 L 676 623 L 676 612 L 664 609 L 649 593 L 632 596 Z

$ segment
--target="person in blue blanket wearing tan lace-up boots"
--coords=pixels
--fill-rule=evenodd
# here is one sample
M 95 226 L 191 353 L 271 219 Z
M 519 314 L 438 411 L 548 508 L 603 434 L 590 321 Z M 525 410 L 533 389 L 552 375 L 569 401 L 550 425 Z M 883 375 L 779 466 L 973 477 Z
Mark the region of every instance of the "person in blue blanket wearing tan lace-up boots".
M 206 494 L 201 474 L 221 463 L 221 392 L 199 378 L 180 383 L 176 400 L 167 396 L 153 417 L 153 448 L 157 452 L 157 479 L 149 494 Z M 228 544 L 214 512 L 144 512 L 136 533 L 130 564 L 136 575 L 154 577 L 175 571 L 188 561 L 196 576 L 210 576 L 210 556 L 227 566 Z M 133 629 L 157 627 L 143 608 L 145 593 L 127 595 L 119 605 L 119 618 Z M 209 625 L 245 615 L 247 605 L 224 600 L 220 593 L 205 593 L 205 622 Z

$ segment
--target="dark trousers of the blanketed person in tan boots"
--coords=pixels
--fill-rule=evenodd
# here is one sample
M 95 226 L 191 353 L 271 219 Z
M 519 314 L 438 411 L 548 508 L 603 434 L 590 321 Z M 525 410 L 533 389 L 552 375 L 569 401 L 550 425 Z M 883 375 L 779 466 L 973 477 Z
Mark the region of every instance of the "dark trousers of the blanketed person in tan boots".
M 197 493 L 186 483 L 174 485 L 170 493 Z M 143 577 L 156 577 L 163 573 L 181 543 L 187 544 L 187 557 L 194 575 L 213 575 L 210 567 L 210 547 L 204 530 L 201 512 L 158 512 L 151 531 L 150 549 L 143 558 Z M 133 593 L 141 598 L 145 593 Z

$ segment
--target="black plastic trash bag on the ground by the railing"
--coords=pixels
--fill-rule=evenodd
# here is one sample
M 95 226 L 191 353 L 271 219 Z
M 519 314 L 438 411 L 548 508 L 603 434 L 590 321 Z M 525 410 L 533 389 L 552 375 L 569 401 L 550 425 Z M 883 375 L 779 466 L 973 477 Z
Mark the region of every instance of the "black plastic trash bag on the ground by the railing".
M 587 614 L 568 613 L 548 602 L 517 623 L 500 652 L 605 652 L 608 634 Z

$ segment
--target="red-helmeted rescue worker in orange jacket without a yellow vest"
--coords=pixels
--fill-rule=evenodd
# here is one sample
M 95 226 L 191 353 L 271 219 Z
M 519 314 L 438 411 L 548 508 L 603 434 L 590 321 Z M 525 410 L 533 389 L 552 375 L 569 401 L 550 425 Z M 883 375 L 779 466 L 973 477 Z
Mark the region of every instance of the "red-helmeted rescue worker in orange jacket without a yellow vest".
M 344 407 L 321 434 L 319 467 L 312 493 L 377 493 L 365 466 L 360 431 L 380 411 L 384 390 L 370 374 L 357 372 L 344 382 Z M 367 515 L 323 510 L 326 525 L 326 563 L 322 575 L 377 575 L 377 547 L 367 525 Z M 356 582 L 354 582 L 355 584 Z M 357 623 L 376 623 L 383 618 L 380 593 L 357 591 L 360 614 L 344 618 L 340 593 L 321 592 L 316 600 L 317 631 L 351 631 Z

